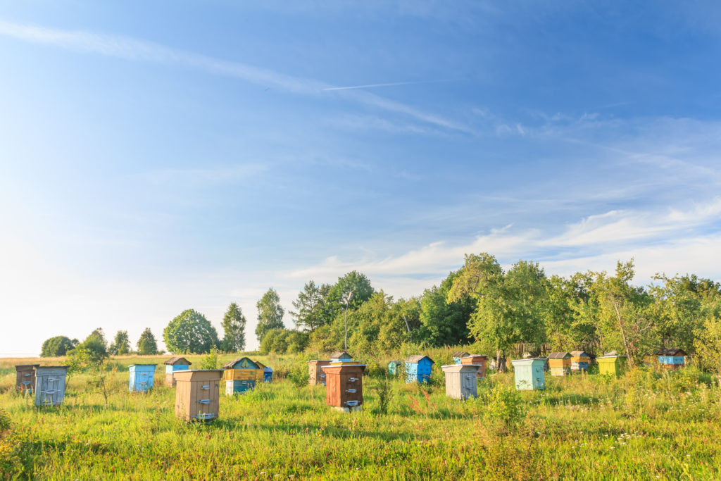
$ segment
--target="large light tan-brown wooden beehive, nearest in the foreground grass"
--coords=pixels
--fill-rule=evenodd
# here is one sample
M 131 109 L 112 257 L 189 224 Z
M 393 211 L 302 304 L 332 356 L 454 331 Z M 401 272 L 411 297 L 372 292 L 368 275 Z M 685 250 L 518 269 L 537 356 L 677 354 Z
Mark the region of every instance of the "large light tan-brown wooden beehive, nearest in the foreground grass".
M 175 415 L 186 421 L 209 421 L 218 418 L 220 410 L 221 369 L 188 369 L 176 371 Z

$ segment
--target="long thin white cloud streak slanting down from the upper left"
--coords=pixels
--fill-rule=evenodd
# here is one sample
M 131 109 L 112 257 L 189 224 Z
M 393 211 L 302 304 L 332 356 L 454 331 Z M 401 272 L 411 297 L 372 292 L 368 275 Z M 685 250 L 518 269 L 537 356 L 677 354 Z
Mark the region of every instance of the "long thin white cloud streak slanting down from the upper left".
M 448 120 L 440 115 L 430 114 L 402 102 L 379 97 L 370 92 L 353 89 L 359 89 L 361 86 L 349 87 L 350 89 L 346 90 L 343 87 L 335 87 L 314 79 L 304 79 L 269 69 L 262 69 L 247 63 L 227 61 L 199 53 L 169 48 L 158 43 L 132 37 L 106 35 L 83 30 L 59 30 L 37 25 L 5 22 L 3 20 L 0 20 L 0 35 L 83 53 L 96 53 L 130 61 L 147 61 L 182 66 L 210 74 L 231 76 L 262 87 L 273 87 L 293 94 L 318 97 L 322 92 L 336 90 L 336 94 L 342 95 L 345 99 L 353 102 L 372 105 L 387 112 L 408 115 L 416 120 L 454 131 L 472 133 L 472 129 L 466 125 Z

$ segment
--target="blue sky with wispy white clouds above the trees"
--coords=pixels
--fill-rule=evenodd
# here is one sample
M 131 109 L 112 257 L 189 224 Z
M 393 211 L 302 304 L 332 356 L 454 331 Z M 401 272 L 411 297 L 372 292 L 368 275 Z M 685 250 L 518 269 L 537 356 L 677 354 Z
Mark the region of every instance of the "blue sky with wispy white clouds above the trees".
M 721 280 L 717 3 L 289 3 L 0 4 L 0 353 L 471 252 Z

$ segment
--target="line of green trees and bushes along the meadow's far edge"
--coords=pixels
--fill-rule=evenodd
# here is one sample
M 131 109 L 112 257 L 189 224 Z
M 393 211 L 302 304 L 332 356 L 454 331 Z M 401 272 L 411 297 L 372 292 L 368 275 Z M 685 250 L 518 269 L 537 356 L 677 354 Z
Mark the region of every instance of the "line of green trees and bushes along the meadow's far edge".
M 493 255 L 482 253 L 466 255 L 459 270 L 423 294 L 394 299 L 353 271 L 335 283 L 308 281 L 288 313 L 293 329 L 283 325 L 284 309 L 270 288 L 256 304 L 255 335 L 264 353 L 324 353 L 343 348 L 347 324 L 354 353 L 476 343 L 474 348 L 499 364 L 519 344 L 535 346 L 535 354 L 616 350 L 631 363 L 660 348 L 678 347 L 721 373 L 721 284 L 696 275 L 659 274 L 648 286 L 634 286 L 633 278 L 633 260 L 617 262 L 614 273 L 564 277 L 546 275 L 538 262 L 526 260 L 504 270 Z M 239 352 L 246 345 L 246 323 L 240 307 L 230 304 L 220 339 L 203 314 L 187 309 L 169 322 L 163 338 L 173 353 Z M 147 341 L 152 348 L 141 350 L 143 336 L 152 339 Z M 143 336 L 138 353 L 156 350 L 151 332 Z M 53 337 L 43 344 L 43 355 L 61 356 L 76 345 Z M 126 353 L 129 346 L 127 332 L 120 331 L 108 350 Z

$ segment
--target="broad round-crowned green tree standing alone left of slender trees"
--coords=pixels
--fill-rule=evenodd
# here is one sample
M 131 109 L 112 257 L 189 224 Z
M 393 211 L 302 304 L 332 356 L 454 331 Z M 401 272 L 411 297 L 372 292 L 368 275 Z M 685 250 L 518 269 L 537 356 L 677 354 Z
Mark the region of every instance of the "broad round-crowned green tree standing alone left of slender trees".
M 187 309 L 169 322 L 163 339 L 172 353 L 208 353 L 218 345 L 218 332 L 203 314 Z

